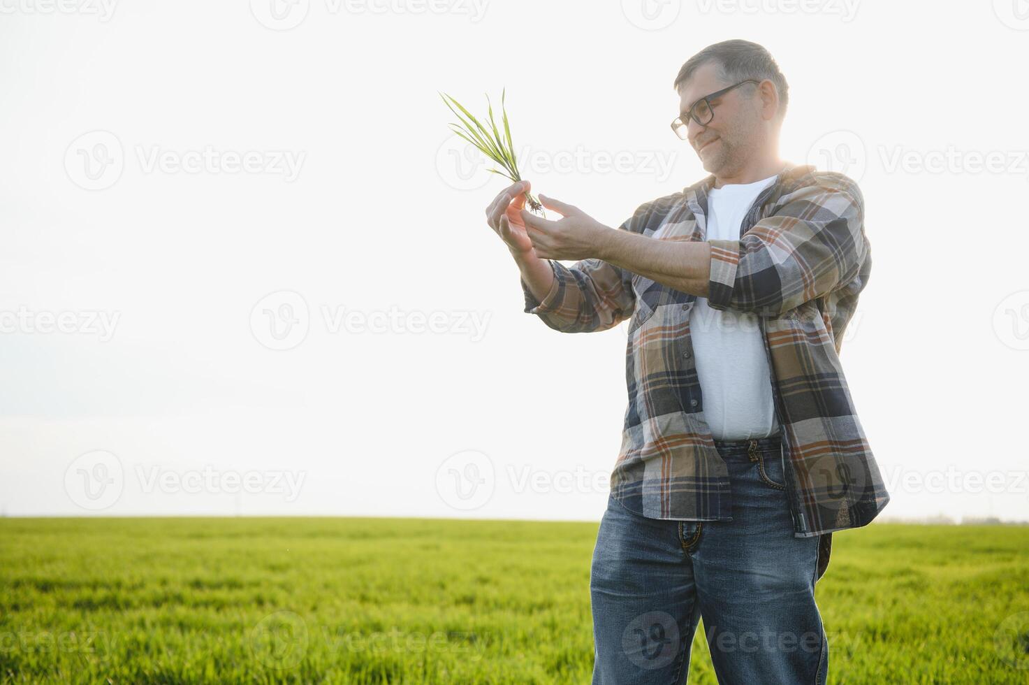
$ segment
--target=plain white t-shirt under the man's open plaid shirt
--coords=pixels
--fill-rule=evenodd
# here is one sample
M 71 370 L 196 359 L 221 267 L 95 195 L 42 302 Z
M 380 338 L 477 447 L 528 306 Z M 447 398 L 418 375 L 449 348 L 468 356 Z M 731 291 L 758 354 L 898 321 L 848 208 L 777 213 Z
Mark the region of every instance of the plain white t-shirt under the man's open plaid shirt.
M 740 225 L 761 191 L 775 181 L 730 183 L 708 193 L 707 239 L 739 240 Z M 704 417 L 715 440 L 777 435 L 772 379 L 757 315 L 719 311 L 697 298 L 689 314 Z

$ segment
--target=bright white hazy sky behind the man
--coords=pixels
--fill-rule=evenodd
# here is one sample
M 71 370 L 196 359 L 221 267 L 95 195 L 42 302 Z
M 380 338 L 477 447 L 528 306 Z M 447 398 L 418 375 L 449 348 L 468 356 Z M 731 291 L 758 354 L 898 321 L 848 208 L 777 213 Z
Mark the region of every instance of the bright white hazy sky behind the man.
M 842 359 L 883 517 L 1029 518 L 1025 0 L 106 1 L 0 0 L 0 512 L 599 519 L 625 326 L 522 311 L 505 179 L 436 92 L 506 87 L 534 190 L 614 227 L 706 175 L 672 81 L 741 37 L 782 157 L 864 193 Z

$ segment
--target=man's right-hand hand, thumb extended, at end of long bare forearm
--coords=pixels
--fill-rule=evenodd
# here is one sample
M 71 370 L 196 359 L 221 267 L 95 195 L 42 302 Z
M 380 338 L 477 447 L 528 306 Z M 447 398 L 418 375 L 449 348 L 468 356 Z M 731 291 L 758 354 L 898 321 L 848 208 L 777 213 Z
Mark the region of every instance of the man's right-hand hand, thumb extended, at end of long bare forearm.
M 600 253 L 601 243 L 610 228 L 596 220 L 578 207 L 539 194 L 539 201 L 564 218 L 551 221 L 521 210 L 536 256 L 543 260 L 587 260 Z

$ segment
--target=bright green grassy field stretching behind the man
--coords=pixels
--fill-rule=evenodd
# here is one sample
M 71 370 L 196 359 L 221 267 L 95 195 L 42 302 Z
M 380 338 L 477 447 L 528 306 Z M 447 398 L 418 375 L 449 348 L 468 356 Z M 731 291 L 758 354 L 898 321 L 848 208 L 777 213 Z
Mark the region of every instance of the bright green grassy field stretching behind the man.
M 4 683 L 588 683 L 596 523 L 0 519 Z M 873 524 L 831 683 L 1029 682 L 1029 526 Z M 1023 613 L 1025 612 L 1025 613 Z M 697 632 L 691 683 L 715 683 Z

